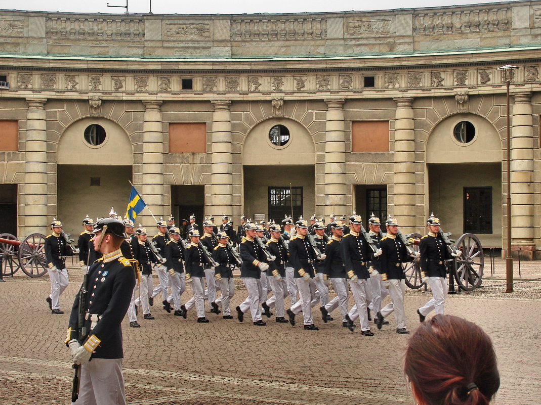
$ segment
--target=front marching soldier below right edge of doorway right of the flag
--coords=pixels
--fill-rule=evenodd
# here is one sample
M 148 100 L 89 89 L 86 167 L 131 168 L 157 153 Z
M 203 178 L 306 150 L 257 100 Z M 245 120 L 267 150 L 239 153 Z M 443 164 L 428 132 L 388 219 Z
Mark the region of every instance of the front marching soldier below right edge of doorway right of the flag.
M 184 250 L 184 266 L 186 267 L 186 281 L 192 286 L 194 296 L 181 306 L 182 317 L 186 319 L 189 309 L 195 306 L 197 312 L 197 322 L 208 323 L 204 316 L 204 267 L 208 264 L 208 258 L 199 245 L 199 231 L 190 230 L 188 237 L 190 244 Z

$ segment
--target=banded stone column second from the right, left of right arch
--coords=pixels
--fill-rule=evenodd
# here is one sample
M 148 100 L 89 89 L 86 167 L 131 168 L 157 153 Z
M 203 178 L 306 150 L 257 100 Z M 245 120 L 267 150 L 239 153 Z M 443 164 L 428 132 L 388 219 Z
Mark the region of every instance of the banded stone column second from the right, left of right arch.
M 413 98 L 394 98 L 394 204 L 389 213 L 397 218 L 402 232 L 415 231 L 415 133 Z M 385 221 L 381 218 L 381 221 Z

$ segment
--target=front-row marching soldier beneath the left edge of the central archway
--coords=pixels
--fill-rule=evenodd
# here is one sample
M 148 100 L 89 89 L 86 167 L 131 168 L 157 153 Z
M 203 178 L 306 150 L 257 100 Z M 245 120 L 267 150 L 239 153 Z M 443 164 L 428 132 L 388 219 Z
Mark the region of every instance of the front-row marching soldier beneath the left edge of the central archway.
M 257 237 L 255 224 L 248 222 L 245 228 L 246 236 L 242 238 L 239 245 L 239 253 L 242 257 L 240 276 L 248 290 L 248 297 L 236 307 L 237 318 L 239 322 L 242 322 L 244 313 L 249 308 L 254 325 L 266 326 L 267 324 L 261 320 L 261 302 L 266 301 L 261 285 L 261 271 L 268 270 L 269 265 L 265 262 L 265 254 L 255 240 Z

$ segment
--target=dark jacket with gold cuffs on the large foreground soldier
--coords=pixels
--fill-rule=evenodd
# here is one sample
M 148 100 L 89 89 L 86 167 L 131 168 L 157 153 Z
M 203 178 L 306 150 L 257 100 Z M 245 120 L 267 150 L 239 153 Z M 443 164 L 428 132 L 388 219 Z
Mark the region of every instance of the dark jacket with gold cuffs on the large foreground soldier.
M 79 339 L 79 295 L 71 308 L 66 341 L 77 339 L 94 353 L 92 358 L 122 358 L 121 323 L 128 311 L 135 287 L 135 274 L 120 249 L 99 258 L 90 266 L 87 276 L 85 320 L 87 334 Z M 91 360 L 90 359 L 90 360 Z

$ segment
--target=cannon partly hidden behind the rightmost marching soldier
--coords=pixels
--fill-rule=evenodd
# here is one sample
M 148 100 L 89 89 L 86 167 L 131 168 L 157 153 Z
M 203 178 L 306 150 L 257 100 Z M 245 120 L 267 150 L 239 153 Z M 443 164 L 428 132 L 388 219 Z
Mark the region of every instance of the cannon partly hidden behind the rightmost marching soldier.
M 450 236 L 451 234 L 445 234 Z M 419 250 L 420 234 L 413 233 L 406 235 L 411 243 L 411 248 Z M 454 241 L 452 241 L 454 242 Z M 461 250 L 462 256 L 454 258 L 448 264 L 449 277 L 456 280 L 457 285 L 464 291 L 473 291 L 482 283 L 483 267 L 485 258 L 483 247 L 479 238 L 474 234 L 461 235 L 454 245 L 455 250 Z M 404 273 L 406 275 L 406 285 L 412 289 L 419 289 L 425 283 L 421 280 L 421 267 L 418 260 L 404 264 Z

